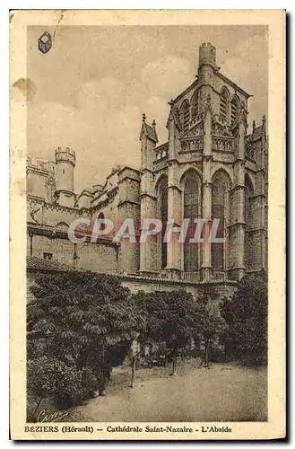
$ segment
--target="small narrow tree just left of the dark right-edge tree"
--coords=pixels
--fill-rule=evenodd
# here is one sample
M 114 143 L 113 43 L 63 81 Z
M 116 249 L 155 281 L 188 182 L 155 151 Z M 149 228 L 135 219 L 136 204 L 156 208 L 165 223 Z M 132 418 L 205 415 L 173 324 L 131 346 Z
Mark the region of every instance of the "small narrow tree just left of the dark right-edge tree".
M 226 329 L 226 323 L 221 317 L 219 304 L 213 302 L 208 295 L 201 295 L 195 308 L 197 320 L 195 340 L 204 344 L 204 366 L 207 367 L 213 343 L 219 343 L 219 339 Z

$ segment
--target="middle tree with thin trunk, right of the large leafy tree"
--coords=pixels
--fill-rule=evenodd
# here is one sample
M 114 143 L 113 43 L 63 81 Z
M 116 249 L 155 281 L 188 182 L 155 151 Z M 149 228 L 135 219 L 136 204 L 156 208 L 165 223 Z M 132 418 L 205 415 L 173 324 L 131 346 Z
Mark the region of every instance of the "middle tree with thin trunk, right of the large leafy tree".
M 179 348 L 186 348 L 195 334 L 195 298 L 184 290 L 173 292 L 139 292 L 136 303 L 143 310 L 145 329 L 140 339 L 165 342 L 172 352 L 172 374 L 176 371 Z

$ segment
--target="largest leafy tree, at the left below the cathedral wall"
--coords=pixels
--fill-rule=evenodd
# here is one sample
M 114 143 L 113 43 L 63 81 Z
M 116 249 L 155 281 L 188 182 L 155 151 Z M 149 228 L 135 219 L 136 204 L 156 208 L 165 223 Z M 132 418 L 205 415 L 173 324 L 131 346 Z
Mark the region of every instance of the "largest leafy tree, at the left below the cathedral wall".
M 143 326 L 143 317 L 129 289 L 121 286 L 117 277 L 73 270 L 39 275 L 31 292 L 35 299 L 27 307 L 28 342 L 38 339 L 43 353 L 46 350 L 54 364 L 62 365 L 63 369 L 66 365 L 80 376 L 81 388 L 82 384 L 90 383 L 92 390 L 98 388 L 102 393 L 111 371 L 108 348 L 134 339 Z M 34 345 L 29 344 L 28 349 L 30 359 L 39 358 Z M 29 367 L 34 368 L 35 374 L 39 370 L 41 377 L 37 362 L 34 365 L 29 360 Z M 34 385 L 31 372 L 29 369 L 29 386 Z M 86 374 L 88 381 L 84 382 Z M 72 381 L 77 382 L 72 377 L 68 378 L 70 392 Z M 52 393 L 57 392 L 56 382 L 53 373 L 47 381 L 52 384 Z M 35 387 L 32 390 L 39 391 Z M 42 393 L 43 397 L 49 392 L 50 388 Z M 61 395 L 60 390 L 58 394 Z

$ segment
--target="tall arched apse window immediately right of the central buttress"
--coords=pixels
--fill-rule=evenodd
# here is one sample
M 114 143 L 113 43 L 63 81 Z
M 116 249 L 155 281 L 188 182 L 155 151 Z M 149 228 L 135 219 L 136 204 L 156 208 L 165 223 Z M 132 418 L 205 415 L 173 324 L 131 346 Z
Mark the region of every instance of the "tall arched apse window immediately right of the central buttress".
M 226 195 L 230 188 L 228 175 L 223 171 L 214 173 L 212 186 L 212 218 L 219 219 L 216 237 L 225 238 L 228 216 Z M 213 269 L 221 271 L 225 269 L 225 243 L 212 242 L 211 254 Z

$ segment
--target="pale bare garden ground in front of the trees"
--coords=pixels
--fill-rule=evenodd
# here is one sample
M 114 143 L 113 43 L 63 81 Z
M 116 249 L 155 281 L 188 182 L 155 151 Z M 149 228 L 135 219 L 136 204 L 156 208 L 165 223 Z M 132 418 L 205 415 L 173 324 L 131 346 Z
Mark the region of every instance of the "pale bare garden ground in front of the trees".
M 135 372 L 128 387 L 128 369 L 115 368 L 105 397 L 75 411 L 85 421 L 249 421 L 266 420 L 266 369 L 214 364 L 211 369 L 182 365 Z

